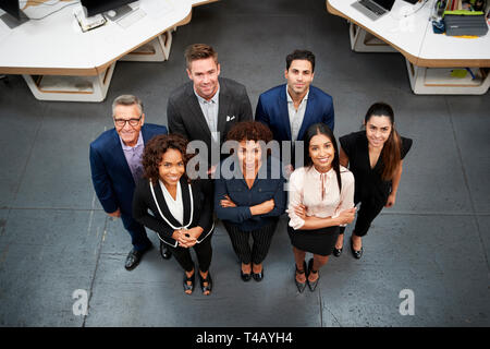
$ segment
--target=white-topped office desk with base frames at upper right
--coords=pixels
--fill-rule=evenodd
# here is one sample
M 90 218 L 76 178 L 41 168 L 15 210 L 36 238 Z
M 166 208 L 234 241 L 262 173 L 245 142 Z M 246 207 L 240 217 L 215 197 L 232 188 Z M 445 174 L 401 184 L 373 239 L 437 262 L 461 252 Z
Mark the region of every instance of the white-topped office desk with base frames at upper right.
M 399 51 L 406 59 L 415 94 L 485 94 L 490 86 L 490 34 L 475 39 L 433 34 L 430 14 L 436 0 L 424 7 L 396 0 L 393 9 L 371 21 L 351 4 L 356 0 L 327 0 L 327 10 L 351 22 L 355 51 Z M 419 10 L 418 10 L 419 9 Z M 390 47 L 387 48 L 376 37 Z M 455 68 L 473 68 L 476 79 L 454 77 Z

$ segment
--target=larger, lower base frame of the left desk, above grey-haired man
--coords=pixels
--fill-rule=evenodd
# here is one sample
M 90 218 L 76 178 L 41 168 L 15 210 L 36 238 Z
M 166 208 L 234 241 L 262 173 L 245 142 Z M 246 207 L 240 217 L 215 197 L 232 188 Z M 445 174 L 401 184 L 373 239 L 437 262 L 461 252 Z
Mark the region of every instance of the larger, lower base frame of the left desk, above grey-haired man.
M 114 72 L 115 62 L 96 76 L 22 75 L 39 100 L 102 101 Z

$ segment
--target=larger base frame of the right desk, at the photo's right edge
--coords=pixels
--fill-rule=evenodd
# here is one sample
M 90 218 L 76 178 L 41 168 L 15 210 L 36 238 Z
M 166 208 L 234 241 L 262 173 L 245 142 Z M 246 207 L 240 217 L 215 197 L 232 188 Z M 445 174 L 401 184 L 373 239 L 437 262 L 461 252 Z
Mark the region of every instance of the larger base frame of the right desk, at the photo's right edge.
M 490 69 L 473 68 L 469 73 L 453 76 L 462 68 L 425 68 L 412 64 L 405 59 L 412 91 L 416 95 L 483 95 L 490 87 Z M 464 70 L 464 69 L 463 69 Z

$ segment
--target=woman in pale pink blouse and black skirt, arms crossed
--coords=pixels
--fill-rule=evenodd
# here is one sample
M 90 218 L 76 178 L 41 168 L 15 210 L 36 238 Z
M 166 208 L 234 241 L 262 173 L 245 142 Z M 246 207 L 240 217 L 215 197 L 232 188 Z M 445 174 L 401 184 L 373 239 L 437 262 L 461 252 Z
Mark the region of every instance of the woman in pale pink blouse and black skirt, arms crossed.
M 295 282 L 303 292 L 306 284 L 317 287 L 323 266 L 332 253 L 340 226 L 354 220 L 354 176 L 339 164 L 333 132 L 324 123 L 308 128 L 305 137 L 305 167 L 290 178 L 290 222 L 287 232 L 296 262 Z M 306 252 L 314 257 L 306 265 Z

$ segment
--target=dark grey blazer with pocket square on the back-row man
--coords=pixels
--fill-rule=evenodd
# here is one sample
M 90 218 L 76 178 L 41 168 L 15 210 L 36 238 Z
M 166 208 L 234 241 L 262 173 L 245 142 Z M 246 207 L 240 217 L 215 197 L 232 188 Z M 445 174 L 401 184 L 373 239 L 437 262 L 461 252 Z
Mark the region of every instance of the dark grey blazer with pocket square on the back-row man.
M 210 165 L 216 165 L 211 163 L 211 149 L 221 146 L 230 129 L 236 122 L 253 120 L 252 105 L 245 86 L 225 77 L 219 77 L 219 145 L 212 141 L 208 123 L 194 94 L 192 81 L 174 89 L 167 104 L 167 122 L 170 133 L 180 133 L 188 141 L 204 141 L 208 146 L 208 164 Z

